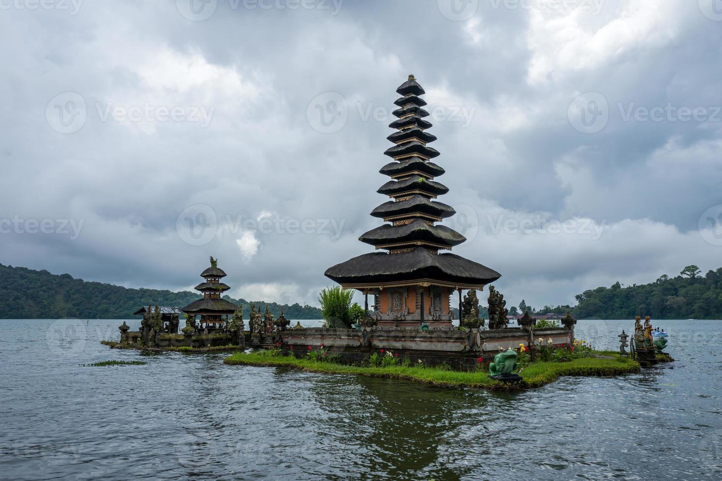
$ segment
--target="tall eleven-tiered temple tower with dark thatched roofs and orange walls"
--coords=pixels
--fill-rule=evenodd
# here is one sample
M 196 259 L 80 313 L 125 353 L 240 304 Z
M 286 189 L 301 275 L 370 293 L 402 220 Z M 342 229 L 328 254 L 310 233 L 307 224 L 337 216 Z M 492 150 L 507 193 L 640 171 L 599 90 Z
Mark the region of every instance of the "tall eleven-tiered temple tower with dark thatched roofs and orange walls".
M 326 276 L 344 288 L 362 291 L 366 299 L 373 294 L 374 315 L 380 326 L 419 327 L 427 322 L 430 328 L 451 328 L 451 294 L 458 291 L 461 307 L 463 289 L 483 289 L 501 275 L 464 257 L 439 253 L 466 238 L 437 225 L 456 211 L 433 200 L 448 188 L 434 180 L 445 171 L 431 162 L 440 154 L 427 145 L 436 137 L 427 132 L 432 125 L 424 120 L 429 115 L 422 108 L 426 105 L 420 97 L 424 89 L 409 75 L 396 92 L 401 98 L 393 102 L 399 107 L 393 115 L 399 120 L 389 127 L 397 131 L 388 136 L 394 146 L 385 152 L 393 162 L 379 171 L 391 180 L 378 190 L 392 200 L 371 213 L 389 224 L 359 238 L 388 252 L 354 257 L 326 270 Z

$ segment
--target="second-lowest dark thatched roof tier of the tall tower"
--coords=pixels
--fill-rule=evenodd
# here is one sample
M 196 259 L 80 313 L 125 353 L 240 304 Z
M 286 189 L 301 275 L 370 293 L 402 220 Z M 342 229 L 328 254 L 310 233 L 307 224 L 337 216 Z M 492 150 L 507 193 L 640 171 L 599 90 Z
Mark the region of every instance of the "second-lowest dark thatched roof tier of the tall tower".
M 421 219 L 414 219 L 401 226 L 384 224 L 362 234 L 359 240 L 374 246 L 423 241 L 453 247 L 464 242 L 466 237 L 447 226 L 430 226 Z

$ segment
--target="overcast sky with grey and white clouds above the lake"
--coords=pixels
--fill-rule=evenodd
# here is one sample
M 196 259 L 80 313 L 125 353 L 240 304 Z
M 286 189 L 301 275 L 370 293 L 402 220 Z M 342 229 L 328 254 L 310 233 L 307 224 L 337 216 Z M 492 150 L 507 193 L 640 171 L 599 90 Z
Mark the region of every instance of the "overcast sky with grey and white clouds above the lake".
M 715 0 L 0 0 L 0 262 L 317 304 L 395 90 L 510 304 L 722 267 Z M 701 228 L 701 230 L 700 230 Z

